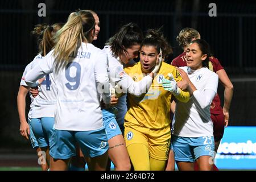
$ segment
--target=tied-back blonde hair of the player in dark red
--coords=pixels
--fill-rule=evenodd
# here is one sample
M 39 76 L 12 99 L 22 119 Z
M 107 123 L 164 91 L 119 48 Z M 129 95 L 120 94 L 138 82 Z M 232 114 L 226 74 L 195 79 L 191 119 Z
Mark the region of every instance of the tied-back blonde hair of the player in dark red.
M 187 47 L 189 43 L 193 39 L 199 38 L 199 32 L 193 28 L 183 28 L 179 35 L 177 36 L 176 40 L 179 42 L 179 46 Z

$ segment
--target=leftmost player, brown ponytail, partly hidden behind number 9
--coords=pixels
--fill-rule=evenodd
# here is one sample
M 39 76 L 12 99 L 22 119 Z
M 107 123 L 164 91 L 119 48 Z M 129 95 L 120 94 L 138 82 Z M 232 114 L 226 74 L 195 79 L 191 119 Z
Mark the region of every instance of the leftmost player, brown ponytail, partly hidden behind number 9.
M 20 134 L 27 139 L 29 135 L 32 143 L 32 147 L 36 148 L 36 151 L 38 152 L 39 157 L 43 154 L 42 152 L 40 152 L 41 150 L 46 152 L 47 160 L 43 159 L 41 161 L 41 166 L 44 171 L 49 168 L 49 138 L 51 138 L 52 126 L 53 126 L 53 123 L 51 122 L 53 121 L 53 114 L 49 114 L 49 113 L 52 112 L 51 111 L 52 105 L 50 104 L 44 105 L 44 103 L 47 102 L 47 100 L 44 100 L 44 99 L 49 99 L 49 97 L 48 98 L 46 97 L 49 94 L 48 94 L 48 90 L 44 88 L 44 85 L 40 86 L 40 89 L 39 89 L 40 94 L 37 98 L 34 99 L 30 94 L 31 105 L 30 105 L 30 111 L 28 113 L 28 123 L 27 123 L 26 117 L 25 117 L 26 96 L 30 88 L 27 86 L 26 82 L 24 81 L 24 77 L 26 73 L 30 71 L 32 67 L 35 67 L 35 65 L 38 64 L 38 61 L 40 61 L 41 58 L 45 56 L 46 53 L 48 53 L 51 50 L 51 48 L 54 46 L 54 43 L 52 42 L 51 38 L 57 30 L 60 30 L 62 26 L 63 26 L 62 23 L 56 23 L 56 24 L 53 24 L 52 26 L 48 26 L 47 24 L 38 24 L 35 26 L 34 30 L 32 31 L 32 34 L 35 35 L 38 39 L 39 55 L 37 55 L 35 59 L 30 64 L 27 65 L 23 73 L 22 80 L 20 82 L 20 87 L 19 87 L 19 92 L 17 97 L 17 105 L 18 105 L 18 112 L 19 112 L 19 118 L 20 118 Z M 48 86 L 50 86 L 50 84 Z M 40 101 L 42 102 L 40 103 Z M 43 116 L 46 116 L 45 114 L 49 114 L 47 116 L 52 117 L 52 119 L 43 117 Z M 36 119 L 37 117 L 39 118 Z M 43 155 L 43 158 L 44 158 L 44 155 Z

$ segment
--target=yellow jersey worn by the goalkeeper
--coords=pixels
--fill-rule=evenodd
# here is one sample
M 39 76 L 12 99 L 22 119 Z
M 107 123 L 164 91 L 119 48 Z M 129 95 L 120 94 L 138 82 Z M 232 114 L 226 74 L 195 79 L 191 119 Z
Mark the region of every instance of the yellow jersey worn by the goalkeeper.
M 142 73 L 140 62 L 126 67 L 125 72 L 131 76 L 134 81 L 142 80 L 142 78 L 146 76 Z M 142 94 L 141 97 L 128 94 L 128 110 L 125 115 L 125 122 L 128 123 L 125 123 L 125 125 L 131 124 L 149 129 L 163 129 L 170 125 L 172 94 L 162 87 L 162 79 L 168 79 L 168 73 L 172 73 L 177 82 L 182 80 L 174 66 L 162 63 L 159 72 L 155 76 L 146 94 Z M 187 102 L 189 100 L 189 93 L 181 91 L 177 100 Z

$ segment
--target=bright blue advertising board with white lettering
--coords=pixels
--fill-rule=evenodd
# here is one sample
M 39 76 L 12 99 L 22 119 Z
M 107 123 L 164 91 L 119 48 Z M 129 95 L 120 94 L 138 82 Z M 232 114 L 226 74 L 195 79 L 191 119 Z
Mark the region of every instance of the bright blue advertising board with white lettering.
M 256 169 L 256 126 L 226 127 L 214 163 L 219 169 Z

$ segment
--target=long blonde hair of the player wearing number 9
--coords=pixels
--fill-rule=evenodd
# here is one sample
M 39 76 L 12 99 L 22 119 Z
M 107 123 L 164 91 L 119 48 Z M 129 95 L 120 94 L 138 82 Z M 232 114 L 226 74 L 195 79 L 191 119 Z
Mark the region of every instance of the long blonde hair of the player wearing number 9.
M 76 55 L 77 49 L 82 42 L 91 42 L 90 33 L 94 30 L 95 20 L 92 13 L 86 10 L 73 12 L 68 16 L 67 23 L 56 32 L 56 42 L 53 56 L 55 57 L 55 69 L 65 67 L 72 57 Z

